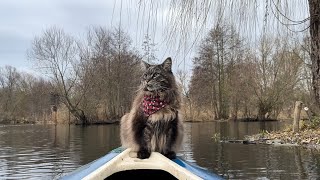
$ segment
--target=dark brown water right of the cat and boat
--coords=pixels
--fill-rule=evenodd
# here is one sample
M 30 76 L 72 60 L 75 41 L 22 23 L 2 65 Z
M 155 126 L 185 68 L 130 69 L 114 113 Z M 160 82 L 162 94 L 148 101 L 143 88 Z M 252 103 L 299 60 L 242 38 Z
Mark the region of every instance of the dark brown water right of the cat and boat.
M 196 161 L 228 179 L 317 179 L 320 151 L 300 147 L 219 143 L 213 135 L 242 139 L 261 130 L 278 130 L 278 122 L 224 122 L 187 124 L 183 151 Z M 191 148 L 191 149 L 189 149 Z M 184 152 L 182 152 L 184 153 Z

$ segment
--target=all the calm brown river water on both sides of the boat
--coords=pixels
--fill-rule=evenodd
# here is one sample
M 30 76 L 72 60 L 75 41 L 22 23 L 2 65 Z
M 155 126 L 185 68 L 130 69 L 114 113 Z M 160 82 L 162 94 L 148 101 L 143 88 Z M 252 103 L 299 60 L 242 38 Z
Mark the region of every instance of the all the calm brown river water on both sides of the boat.
M 317 179 L 320 152 L 300 147 L 226 144 L 282 128 L 279 122 L 187 123 L 178 153 L 228 179 Z M 120 145 L 119 126 L 0 126 L 0 179 L 57 179 Z

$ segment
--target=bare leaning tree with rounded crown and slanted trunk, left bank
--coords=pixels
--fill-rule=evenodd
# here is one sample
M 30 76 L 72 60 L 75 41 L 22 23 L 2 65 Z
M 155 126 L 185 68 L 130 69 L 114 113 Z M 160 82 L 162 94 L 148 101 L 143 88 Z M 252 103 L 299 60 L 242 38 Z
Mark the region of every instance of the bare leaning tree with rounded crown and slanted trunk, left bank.
M 83 95 L 73 98 L 74 88 L 78 80 L 77 65 L 79 63 L 79 46 L 77 41 L 62 29 L 52 27 L 35 37 L 28 52 L 37 67 L 49 75 L 53 89 L 61 97 L 60 100 L 82 124 L 87 117 L 79 102 Z

